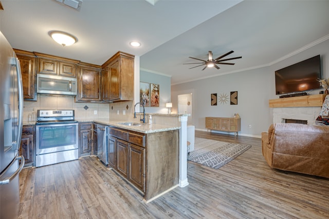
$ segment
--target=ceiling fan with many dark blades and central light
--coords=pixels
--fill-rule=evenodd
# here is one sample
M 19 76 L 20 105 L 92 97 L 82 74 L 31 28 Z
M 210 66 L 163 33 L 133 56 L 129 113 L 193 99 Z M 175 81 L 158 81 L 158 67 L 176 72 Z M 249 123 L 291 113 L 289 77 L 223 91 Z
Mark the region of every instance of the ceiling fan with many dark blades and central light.
M 225 61 L 229 61 L 229 60 L 232 60 L 232 59 L 237 59 L 237 58 L 242 58 L 242 56 L 239 56 L 239 57 L 234 57 L 234 58 L 225 58 L 225 59 L 222 59 L 224 58 L 225 56 L 233 53 L 234 51 L 230 51 L 228 53 L 225 53 L 224 55 L 221 55 L 220 57 L 218 58 L 215 58 L 213 59 L 212 58 L 212 52 L 211 51 L 208 51 L 208 60 L 203 60 L 203 59 L 199 59 L 199 58 L 193 58 L 193 57 L 189 57 L 189 58 L 193 58 L 193 59 L 196 59 L 196 60 L 199 60 L 199 61 L 202 61 L 203 63 L 184 63 L 183 65 L 190 65 L 190 64 L 202 64 L 202 65 L 198 65 L 198 66 L 194 66 L 192 68 L 196 68 L 196 67 L 199 67 L 199 66 L 203 66 L 205 65 L 205 67 L 202 69 L 202 70 L 205 70 L 207 67 L 208 68 L 211 68 L 211 67 L 215 67 L 216 69 L 220 69 L 220 67 L 218 67 L 217 65 L 234 65 L 234 63 L 223 63 Z M 216 65 L 217 64 L 217 65 Z M 189 68 L 189 69 L 192 69 L 192 68 Z

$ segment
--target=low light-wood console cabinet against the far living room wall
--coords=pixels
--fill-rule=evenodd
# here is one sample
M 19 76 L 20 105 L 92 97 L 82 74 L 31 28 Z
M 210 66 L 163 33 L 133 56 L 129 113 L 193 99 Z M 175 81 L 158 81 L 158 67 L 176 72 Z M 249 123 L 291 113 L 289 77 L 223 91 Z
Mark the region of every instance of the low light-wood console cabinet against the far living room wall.
M 216 131 L 234 132 L 234 136 L 241 131 L 241 118 L 235 117 L 206 117 L 206 128 Z

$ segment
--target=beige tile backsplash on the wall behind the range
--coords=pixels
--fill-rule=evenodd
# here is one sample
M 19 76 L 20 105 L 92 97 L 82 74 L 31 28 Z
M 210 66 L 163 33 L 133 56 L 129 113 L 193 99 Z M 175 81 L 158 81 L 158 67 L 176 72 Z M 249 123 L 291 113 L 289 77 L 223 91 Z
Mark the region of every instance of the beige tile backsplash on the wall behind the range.
M 88 109 L 85 110 L 84 107 Z M 35 111 L 34 117 L 32 115 L 33 109 Z M 23 122 L 29 121 L 29 114 L 31 121 L 36 119 L 36 110 L 40 109 L 56 109 L 75 110 L 75 118 L 77 120 L 109 118 L 109 104 L 106 103 L 76 103 L 74 97 L 70 96 L 48 96 L 38 94 L 38 101 L 24 101 Z M 95 114 L 95 112 L 97 114 Z

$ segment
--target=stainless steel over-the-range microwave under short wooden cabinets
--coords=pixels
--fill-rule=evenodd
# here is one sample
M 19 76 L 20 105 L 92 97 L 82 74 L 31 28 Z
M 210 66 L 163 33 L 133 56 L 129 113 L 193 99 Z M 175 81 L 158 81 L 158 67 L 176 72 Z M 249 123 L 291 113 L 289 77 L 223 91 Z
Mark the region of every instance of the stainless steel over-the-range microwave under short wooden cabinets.
M 36 92 L 40 94 L 77 95 L 77 78 L 38 74 Z

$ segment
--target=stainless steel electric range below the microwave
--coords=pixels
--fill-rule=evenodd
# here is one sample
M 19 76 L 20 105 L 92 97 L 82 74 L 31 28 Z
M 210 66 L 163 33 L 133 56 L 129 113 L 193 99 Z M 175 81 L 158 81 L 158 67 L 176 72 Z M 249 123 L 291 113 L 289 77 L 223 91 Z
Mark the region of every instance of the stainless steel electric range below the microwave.
M 78 159 L 74 110 L 38 110 L 36 121 L 36 167 Z

